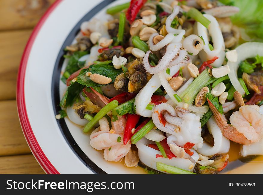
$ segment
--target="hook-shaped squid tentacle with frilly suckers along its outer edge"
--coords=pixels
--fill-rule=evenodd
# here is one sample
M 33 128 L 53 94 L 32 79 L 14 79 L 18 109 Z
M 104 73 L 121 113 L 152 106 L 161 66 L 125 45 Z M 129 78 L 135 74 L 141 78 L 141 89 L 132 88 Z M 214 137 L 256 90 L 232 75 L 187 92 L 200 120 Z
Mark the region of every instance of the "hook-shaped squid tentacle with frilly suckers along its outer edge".
M 169 63 L 172 61 L 172 59 L 175 57 L 175 55 L 178 53 L 179 49 L 181 48 L 181 43 L 171 43 L 166 47 L 166 52 L 162 59 L 159 61 L 159 63 L 152 67 L 149 63 L 149 55 L 152 53 L 151 51 L 147 51 L 144 58 L 143 58 L 143 66 L 144 69 L 151 74 L 157 74 L 164 70 Z

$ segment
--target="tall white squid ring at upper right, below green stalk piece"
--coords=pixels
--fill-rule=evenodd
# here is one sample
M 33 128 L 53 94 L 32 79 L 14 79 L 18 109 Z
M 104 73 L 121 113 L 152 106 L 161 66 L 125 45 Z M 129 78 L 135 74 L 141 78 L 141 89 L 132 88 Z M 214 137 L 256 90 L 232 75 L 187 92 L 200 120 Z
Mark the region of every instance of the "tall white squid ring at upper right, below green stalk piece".
M 202 36 L 205 42 L 204 49 L 199 52 L 199 56 L 203 62 L 214 58 L 215 56 L 218 57 L 214 63 L 211 65 L 214 67 L 219 67 L 223 64 L 225 59 L 225 43 L 224 38 L 220 29 L 220 26 L 215 19 L 215 17 L 209 14 L 203 14 L 204 17 L 210 20 L 210 25 L 208 27 L 209 36 L 212 37 L 213 47 L 214 49 L 211 51 L 209 48 L 209 39 L 208 39 L 208 32 L 206 27 L 203 26 L 200 22 L 195 24 L 195 28 L 198 36 Z

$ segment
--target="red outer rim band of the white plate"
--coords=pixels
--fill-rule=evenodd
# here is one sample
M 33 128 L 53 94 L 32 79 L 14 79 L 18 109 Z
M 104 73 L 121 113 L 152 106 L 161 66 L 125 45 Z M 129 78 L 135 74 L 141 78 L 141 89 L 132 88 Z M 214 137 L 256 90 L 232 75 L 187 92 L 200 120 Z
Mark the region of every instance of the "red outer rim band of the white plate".
M 27 140 L 27 144 L 29 145 L 29 148 L 31 149 L 39 165 L 48 174 L 59 174 L 59 172 L 51 164 L 51 162 L 48 160 L 45 153 L 42 151 L 39 143 L 36 140 L 33 130 L 31 128 L 31 125 L 30 125 L 30 122 L 27 116 L 26 105 L 25 105 L 25 72 L 26 72 L 26 67 L 27 67 L 27 60 L 28 60 L 32 45 L 36 39 L 37 34 L 39 33 L 39 30 L 41 29 L 42 25 L 44 24 L 48 16 L 53 12 L 53 10 L 57 7 L 57 5 L 61 1 L 62 0 L 57 0 L 56 2 L 54 2 L 51 5 L 51 7 L 49 7 L 49 9 L 46 11 L 46 13 L 42 16 L 42 18 L 39 20 L 36 27 L 34 28 L 33 33 L 31 34 L 26 44 L 24 53 L 22 55 L 22 59 L 21 59 L 19 71 L 18 71 L 17 88 L 16 88 L 18 115 L 19 115 L 19 120 L 20 120 L 20 124 L 23 130 L 23 133 Z

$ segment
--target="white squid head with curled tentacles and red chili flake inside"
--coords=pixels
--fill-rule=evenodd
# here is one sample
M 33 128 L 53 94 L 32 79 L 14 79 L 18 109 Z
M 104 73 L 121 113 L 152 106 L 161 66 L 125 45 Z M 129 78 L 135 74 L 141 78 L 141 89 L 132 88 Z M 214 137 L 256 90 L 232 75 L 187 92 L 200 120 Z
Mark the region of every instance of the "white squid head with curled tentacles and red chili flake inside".
M 155 106 L 152 120 L 159 130 L 172 134 L 176 145 L 183 147 L 190 142 L 197 148 L 202 147 L 200 117 L 189 110 L 180 107 L 174 109 L 171 105 L 162 103 Z

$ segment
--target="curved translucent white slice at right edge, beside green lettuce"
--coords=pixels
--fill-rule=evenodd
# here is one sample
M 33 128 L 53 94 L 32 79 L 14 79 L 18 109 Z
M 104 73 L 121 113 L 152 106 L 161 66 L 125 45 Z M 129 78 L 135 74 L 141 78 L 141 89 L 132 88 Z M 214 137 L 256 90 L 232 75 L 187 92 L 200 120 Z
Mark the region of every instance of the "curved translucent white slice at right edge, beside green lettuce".
M 248 58 L 253 58 L 256 55 L 263 56 L 263 43 L 259 42 L 247 42 L 236 47 L 236 52 L 238 59 L 236 62 L 228 62 L 230 68 L 230 73 L 228 74 L 231 84 L 235 89 L 241 94 L 244 95 L 245 91 L 240 85 L 237 78 L 237 70 L 240 62 Z

